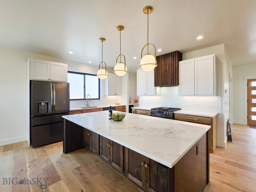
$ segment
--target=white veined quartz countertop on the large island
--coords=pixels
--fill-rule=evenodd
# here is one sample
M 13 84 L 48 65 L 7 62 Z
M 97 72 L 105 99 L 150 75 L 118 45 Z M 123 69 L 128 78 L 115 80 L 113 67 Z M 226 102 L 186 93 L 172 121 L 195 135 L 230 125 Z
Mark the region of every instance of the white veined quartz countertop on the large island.
M 108 119 L 108 111 L 62 117 L 170 168 L 210 129 L 208 125 L 132 113 L 116 122 Z

